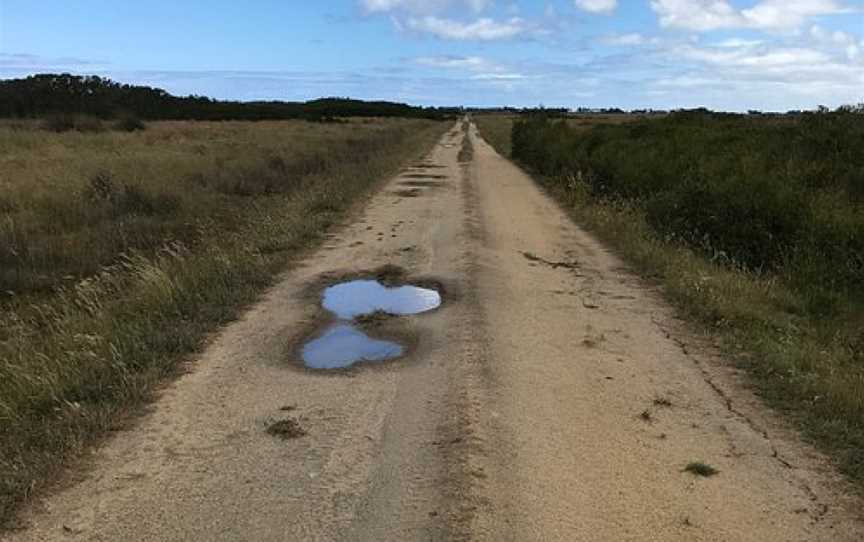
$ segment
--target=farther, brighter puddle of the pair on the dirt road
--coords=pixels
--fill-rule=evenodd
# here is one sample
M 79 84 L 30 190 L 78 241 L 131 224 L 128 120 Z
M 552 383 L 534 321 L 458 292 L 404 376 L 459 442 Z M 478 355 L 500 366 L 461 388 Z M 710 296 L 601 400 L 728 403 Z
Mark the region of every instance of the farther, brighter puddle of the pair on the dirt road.
M 417 286 L 387 288 L 377 280 L 354 280 L 324 290 L 323 306 L 342 320 L 375 311 L 406 316 L 437 309 L 441 294 Z

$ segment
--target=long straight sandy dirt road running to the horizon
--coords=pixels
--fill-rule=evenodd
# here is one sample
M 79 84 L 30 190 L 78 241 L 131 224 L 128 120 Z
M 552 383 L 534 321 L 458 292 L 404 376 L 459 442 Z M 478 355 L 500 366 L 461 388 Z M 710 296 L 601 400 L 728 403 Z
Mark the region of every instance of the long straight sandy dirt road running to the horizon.
M 390 181 L 9 539 L 864 539 L 824 459 L 473 127 L 461 167 L 462 137 Z M 445 289 L 404 320 L 409 355 L 302 369 L 321 286 L 384 264 Z M 265 432 L 286 418 L 307 434 Z M 698 460 L 720 473 L 683 471 Z

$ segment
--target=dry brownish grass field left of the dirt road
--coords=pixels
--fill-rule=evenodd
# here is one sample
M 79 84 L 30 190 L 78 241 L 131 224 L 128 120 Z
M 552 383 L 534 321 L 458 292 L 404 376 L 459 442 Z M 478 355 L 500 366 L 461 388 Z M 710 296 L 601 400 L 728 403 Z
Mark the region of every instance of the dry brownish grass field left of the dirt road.
M 448 127 L 0 124 L 0 525 Z

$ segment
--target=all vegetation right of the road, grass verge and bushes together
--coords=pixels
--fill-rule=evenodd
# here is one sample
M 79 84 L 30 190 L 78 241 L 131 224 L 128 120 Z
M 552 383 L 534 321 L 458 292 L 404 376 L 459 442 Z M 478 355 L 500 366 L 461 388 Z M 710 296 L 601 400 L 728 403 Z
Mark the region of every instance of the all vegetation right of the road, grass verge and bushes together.
M 534 118 L 512 130 L 512 118 L 477 118 L 492 145 L 721 339 L 759 393 L 861 482 L 860 115 L 631 121 Z

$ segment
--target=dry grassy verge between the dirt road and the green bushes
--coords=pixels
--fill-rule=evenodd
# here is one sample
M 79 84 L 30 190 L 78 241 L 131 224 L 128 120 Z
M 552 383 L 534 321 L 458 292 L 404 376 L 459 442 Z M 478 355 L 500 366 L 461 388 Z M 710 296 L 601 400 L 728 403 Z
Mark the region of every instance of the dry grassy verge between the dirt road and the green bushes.
M 502 134 L 512 120 L 478 116 L 482 134 Z M 499 152 L 508 145 L 495 143 Z M 658 235 L 645 209 L 603 199 L 578 178 L 534 178 L 573 220 L 616 248 L 652 279 L 700 332 L 717 339 L 755 391 L 787 414 L 805 438 L 864 488 L 864 302 L 856 295 L 819 303 L 823 284 L 782 273 L 748 271 Z

